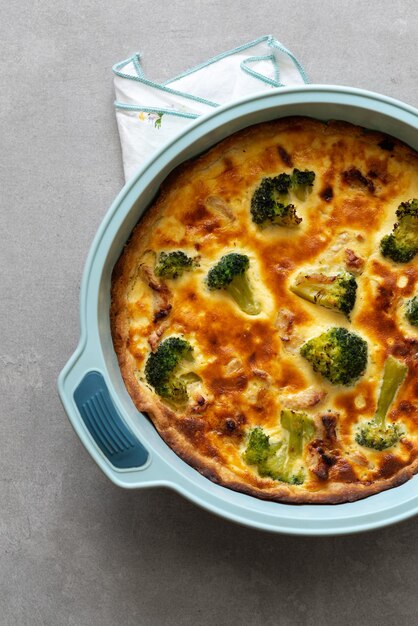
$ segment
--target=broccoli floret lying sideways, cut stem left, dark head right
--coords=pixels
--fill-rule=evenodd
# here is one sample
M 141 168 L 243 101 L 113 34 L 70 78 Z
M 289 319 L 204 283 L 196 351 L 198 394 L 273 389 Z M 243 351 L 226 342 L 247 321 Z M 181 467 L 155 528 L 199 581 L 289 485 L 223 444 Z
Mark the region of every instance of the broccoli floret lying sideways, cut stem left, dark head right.
M 345 270 L 300 272 L 290 290 L 309 302 L 341 311 L 348 317 L 356 301 L 357 281 Z

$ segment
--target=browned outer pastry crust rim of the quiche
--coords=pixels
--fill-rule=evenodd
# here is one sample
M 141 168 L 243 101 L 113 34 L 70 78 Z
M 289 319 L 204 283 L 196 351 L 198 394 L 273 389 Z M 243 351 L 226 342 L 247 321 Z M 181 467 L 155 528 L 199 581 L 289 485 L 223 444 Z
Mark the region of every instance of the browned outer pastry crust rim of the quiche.
M 134 374 L 136 369 L 135 358 L 128 347 L 130 325 L 126 307 L 126 292 L 136 271 L 136 259 L 146 250 L 149 233 L 152 230 L 152 226 L 161 217 L 164 210 L 164 202 L 169 198 L 173 187 L 181 185 L 182 181 L 186 183 L 190 176 L 193 175 L 195 168 L 198 168 L 200 171 L 209 168 L 211 163 L 219 160 L 230 148 L 234 148 L 242 137 L 246 139 L 254 138 L 256 140 L 260 132 L 270 130 L 277 132 L 283 124 L 288 126 L 292 123 L 300 124 L 301 122 L 309 125 L 322 124 L 322 122 L 317 122 L 310 118 L 285 118 L 285 121 L 277 120 L 252 126 L 224 139 L 202 156 L 180 165 L 168 176 L 161 187 L 156 201 L 154 201 L 151 208 L 135 227 L 131 238 L 115 265 L 112 275 L 111 332 L 122 377 L 135 406 L 139 411 L 145 412 L 151 417 L 159 434 L 170 448 L 206 478 L 235 491 L 261 499 L 292 503 L 349 502 L 404 483 L 418 471 L 418 458 L 415 458 L 412 463 L 402 467 L 388 478 L 382 476 L 371 484 L 333 483 L 327 492 L 321 492 L 320 490 L 310 492 L 303 487 L 277 481 L 273 486 L 264 486 L 264 484 L 257 486 L 254 484 L 254 481 L 250 480 L 250 474 L 249 480 L 244 482 L 233 471 L 218 461 L 216 450 L 211 450 L 209 446 L 206 454 L 203 454 L 179 430 L 176 411 L 164 403 L 151 388 L 138 382 Z M 344 122 L 333 122 L 331 124 L 342 134 L 347 133 L 352 136 L 353 133 L 356 133 L 362 138 L 365 136 L 365 130 L 361 127 L 355 127 Z M 387 139 L 385 135 L 376 131 L 367 131 L 366 136 L 373 138 L 374 142 Z M 402 155 L 404 159 L 409 159 L 411 155 L 412 158 L 416 158 L 412 150 L 398 140 L 390 138 L 390 141 L 396 146 L 398 155 Z M 192 430 L 195 427 L 193 418 L 188 417 L 187 420 L 187 427 Z

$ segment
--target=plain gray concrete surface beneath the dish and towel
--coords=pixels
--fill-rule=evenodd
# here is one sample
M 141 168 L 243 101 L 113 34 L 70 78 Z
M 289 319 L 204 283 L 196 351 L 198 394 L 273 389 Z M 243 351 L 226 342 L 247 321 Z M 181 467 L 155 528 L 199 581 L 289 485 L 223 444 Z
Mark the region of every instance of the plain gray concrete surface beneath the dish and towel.
M 92 237 L 123 179 L 112 64 L 166 79 L 272 33 L 315 82 L 418 105 L 415 0 L 0 0 L 0 624 L 417 623 L 417 525 L 297 539 L 165 490 L 127 493 L 74 435 L 56 378 Z

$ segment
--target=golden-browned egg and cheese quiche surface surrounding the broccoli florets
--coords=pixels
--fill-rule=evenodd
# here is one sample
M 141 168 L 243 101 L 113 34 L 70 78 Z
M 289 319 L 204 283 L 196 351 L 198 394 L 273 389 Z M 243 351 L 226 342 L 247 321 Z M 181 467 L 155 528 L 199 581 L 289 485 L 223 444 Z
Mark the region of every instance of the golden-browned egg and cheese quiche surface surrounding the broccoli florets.
M 312 193 L 297 205 L 302 223 L 260 228 L 250 214 L 255 188 L 263 177 L 294 167 L 316 174 Z M 347 174 L 354 170 L 364 180 Z M 133 402 L 184 461 L 225 487 L 293 503 L 354 501 L 417 472 L 418 336 L 402 306 L 416 293 L 418 268 L 416 259 L 395 264 L 379 251 L 398 205 L 417 197 L 413 150 L 347 123 L 308 118 L 247 128 L 171 173 L 115 266 L 111 330 Z M 156 255 L 172 250 L 198 256 L 199 267 L 156 279 Z M 233 251 L 250 258 L 258 315 L 246 315 L 225 291 L 206 286 L 209 268 Z M 350 320 L 289 290 L 292 276 L 319 263 L 357 275 Z M 332 326 L 368 343 L 366 372 L 351 387 L 331 385 L 299 354 L 302 343 Z M 170 336 L 191 343 L 200 377 L 180 409 L 162 400 L 144 374 L 150 352 Z M 355 429 L 376 410 L 389 354 L 408 366 L 388 416 L 406 431 L 396 446 L 377 452 L 356 443 Z M 243 459 L 252 427 L 280 437 L 284 407 L 303 409 L 317 428 L 305 447 L 302 485 L 263 478 Z M 326 467 L 321 446 L 332 454 Z

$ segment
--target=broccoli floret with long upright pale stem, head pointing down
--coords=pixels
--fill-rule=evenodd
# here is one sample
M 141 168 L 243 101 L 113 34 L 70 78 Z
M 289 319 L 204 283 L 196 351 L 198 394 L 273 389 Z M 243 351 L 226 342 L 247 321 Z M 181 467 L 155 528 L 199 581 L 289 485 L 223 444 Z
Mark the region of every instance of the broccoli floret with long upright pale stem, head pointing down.
M 406 365 L 392 356 L 386 359 L 376 413 L 372 420 L 357 430 L 356 441 L 361 446 L 375 450 L 386 450 L 399 441 L 403 429 L 399 424 L 387 424 L 386 415 L 407 371 Z

